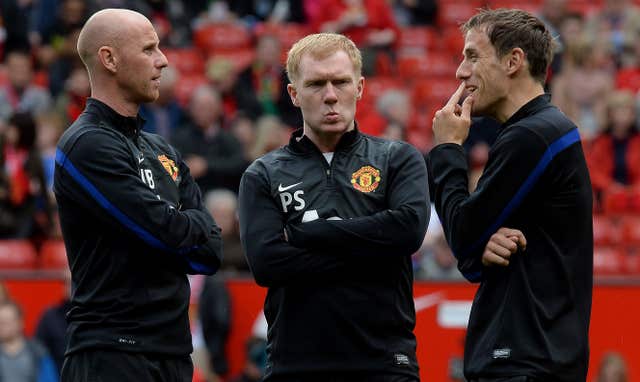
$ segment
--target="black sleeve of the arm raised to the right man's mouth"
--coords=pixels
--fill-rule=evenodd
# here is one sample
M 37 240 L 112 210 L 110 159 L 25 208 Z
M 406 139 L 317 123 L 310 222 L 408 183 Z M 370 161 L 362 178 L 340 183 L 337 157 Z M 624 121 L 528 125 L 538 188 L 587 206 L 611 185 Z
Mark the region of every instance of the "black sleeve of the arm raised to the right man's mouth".
M 517 131 L 519 132 L 513 132 Z M 429 153 L 433 196 L 458 268 L 470 281 L 482 279 L 482 253 L 539 176 L 547 144 L 528 129 L 512 126 L 492 147 L 476 190 L 469 194 L 462 146 L 442 144 Z M 526 235 L 526 233 L 525 233 Z

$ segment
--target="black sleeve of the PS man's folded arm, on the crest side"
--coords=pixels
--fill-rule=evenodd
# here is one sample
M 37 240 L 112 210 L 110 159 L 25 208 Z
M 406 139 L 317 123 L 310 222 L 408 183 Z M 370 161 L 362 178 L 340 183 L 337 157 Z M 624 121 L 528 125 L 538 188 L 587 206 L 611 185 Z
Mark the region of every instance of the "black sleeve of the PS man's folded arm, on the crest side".
M 414 147 L 391 153 L 388 209 L 345 220 L 317 219 L 287 226 L 293 245 L 341 249 L 359 255 L 411 255 L 420 248 L 429 224 L 427 168 Z

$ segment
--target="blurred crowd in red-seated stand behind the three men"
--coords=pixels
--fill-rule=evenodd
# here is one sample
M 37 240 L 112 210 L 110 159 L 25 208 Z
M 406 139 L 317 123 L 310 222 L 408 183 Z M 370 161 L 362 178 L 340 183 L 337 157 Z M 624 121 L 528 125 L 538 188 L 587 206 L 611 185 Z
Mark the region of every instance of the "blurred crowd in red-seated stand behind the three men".
M 424 153 L 431 119 L 456 87 L 461 21 L 482 6 L 520 7 L 557 37 L 547 90 L 580 128 L 595 204 L 596 273 L 640 274 L 640 8 L 632 0 L 12 0 L 0 1 L 0 238 L 36 248 L 60 237 L 51 191 L 55 144 L 83 110 L 89 81 L 76 52 L 105 7 L 147 15 L 170 66 L 145 130 L 178 148 L 223 227 L 225 270 L 248 271 L 236 192 L 244 169 L 302 124 L 286 92 L 288 47 L 316 31 L 361 48 L 358 128 Z M 478 119 L 466 143 L 473 188 L 498 130 Z M 457 279 L 434 215 L 414 256 L 417 278 Z

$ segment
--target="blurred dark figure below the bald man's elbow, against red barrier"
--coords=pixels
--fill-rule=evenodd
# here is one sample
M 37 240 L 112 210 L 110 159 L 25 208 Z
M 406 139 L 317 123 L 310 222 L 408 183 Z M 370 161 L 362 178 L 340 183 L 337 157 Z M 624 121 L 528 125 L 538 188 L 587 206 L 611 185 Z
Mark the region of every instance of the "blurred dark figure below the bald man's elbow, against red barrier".
M 231 295 L 220 277 L 205 279 L 198 303 L 198 317 L 209 360 L 210 370 L 205 372 L 207 381 L 217 382 L 229 371 L 225 347 L 232 323 Z

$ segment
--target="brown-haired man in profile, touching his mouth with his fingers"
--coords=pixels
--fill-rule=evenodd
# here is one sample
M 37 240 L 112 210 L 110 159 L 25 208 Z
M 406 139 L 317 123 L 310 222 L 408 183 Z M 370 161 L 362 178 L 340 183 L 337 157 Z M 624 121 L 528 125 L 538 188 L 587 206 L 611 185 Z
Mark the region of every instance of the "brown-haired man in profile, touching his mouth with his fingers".
M 592 195 L 578 130 L 544 94 L 553 39 L 544 23 L 520 10 L 480 11 L 462 30 L 456 73 L 462 83 L 436 112 L 437 145 L 428 164 L 458 268 L 481 283 L 469 318 L 465 377 L 584 381 Z M 469 194 L 462 144 L 471 115 L 502 125 Z

